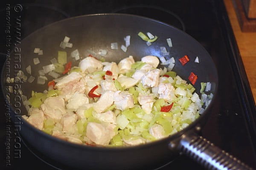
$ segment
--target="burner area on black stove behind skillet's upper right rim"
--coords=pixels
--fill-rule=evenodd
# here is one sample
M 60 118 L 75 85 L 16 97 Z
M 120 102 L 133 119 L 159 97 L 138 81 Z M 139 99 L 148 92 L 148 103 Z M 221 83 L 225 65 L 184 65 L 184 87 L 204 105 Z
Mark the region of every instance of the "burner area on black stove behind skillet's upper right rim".
M 167 10 L 166 8 L 149 6 L 149 5 L 134 5 L 124 6 L 117 8 L 112 13 L 125 13 L 125 14 L 136 14 L 144 17 L 154 18 L 165 23 L 169 23 L 180 30 L 186 31 L 185 23 L 183 20 L 174 12 Z

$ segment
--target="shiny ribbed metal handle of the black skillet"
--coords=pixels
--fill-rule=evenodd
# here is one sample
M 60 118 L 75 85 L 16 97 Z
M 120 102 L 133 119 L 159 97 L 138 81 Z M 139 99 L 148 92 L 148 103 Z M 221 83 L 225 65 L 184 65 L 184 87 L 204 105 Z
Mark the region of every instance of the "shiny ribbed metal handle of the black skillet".
M 189 133 L 182 137 L 178 149 L 209 170 L 253 170 L 202 136 Z

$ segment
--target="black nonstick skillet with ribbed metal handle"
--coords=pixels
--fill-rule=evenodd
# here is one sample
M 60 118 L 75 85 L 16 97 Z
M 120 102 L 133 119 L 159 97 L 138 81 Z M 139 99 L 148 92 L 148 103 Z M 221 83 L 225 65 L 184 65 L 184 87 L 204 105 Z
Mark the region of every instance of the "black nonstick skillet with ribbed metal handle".
M 157 35 L 158 40 L 148 46 L 145 41 L 137 36 L 139 31 L 144 33 L 151 32 Z M 131 45 L 124 52 L 120 49 L 120 46 L 122 44 L 125 45 L 124 37 L 127 35 L 131 36 Z M 59 47 L 65 36 L 71 38 L 70 42 L 73 43 L 73 48 L 62 49 Z M 172 39 L 173 47 L 169 48 L 166 42 L 167 38 Z M 118 43 L 118 50 L 111 49 L 112 42 Z M 58 51 L 67 51 L 68 60 L 72 61 L 73 65 L 78 65 L 79 61 L 75 62 L 70 57 L 70 53 L 75 49 L 80 51 L 82 58 L 87 57 L 92 51 L 97 54 L 104 49 L 108 51 L 106 61 L 119 62 L 129 55 L 132 55 L 135 60 L 140 60 L 141 57 L 146 55 L 161 57 L 160 47 L 162 46 L 166 47 L 167 51 L 170 52 L 167 59 L 170 57 L 175 58 L 176 62 L 173 70 L 180 77 L 188 80 L 191 72 L 198 76 L 198 80 L 194 85 L 198 94 L 200 94 L 200 82 L 211 82 L 212 88 L 209 93 L 212 93 L 213 96 L 216 94 L 218 74 L 212 58 L 199 42 L 166 23 L 129 14 L 86 15 L 53 23 L 35 31 L 22 40 L 10 55 L 12 58 L 11 63 L 6 63 L 6 65 L 10 65 L 10 68 L 14 70 L 11 73 L 11 77 L 18 70 L 15 68 L 17 65 L 21 66 L 21 70 L 24 73 L 26 73 L 25 68 L 31 65 L 32 76 L 37 77 L 38 70 L 41 70 L 44 65 L 51 64 L 50 60 L 57 57 Z M 33 53 L 35 47 L 43 50 L 43 56 Z M 182 66 L 178 59 L 184 55 L 188 55 L 190 61 Z M 199 63 L 194 62 L 197 56 L 199 57 Z M 19 57 L 20 62 L 18 61 Z M 33 64 L 33 58 L 36 57 L 40 59 L 38 65 Z M 7 92 L 4 88 L 6 86 L 5 71 L 6 69 L 2 71 L 2 88 L 6 96 Z M 28 76 L 28 74 L 26 75 Z M 52 79 L 50 76 L 47 77 Z M 28 98 L 31 96 L 32 90 L 42 92 L 47 89 L 47 85 L 38 85 L 36 80 L 32 83 L 16 82 L 11 85 L 13 87 L 20 85 L 23 95 Z M 10 94 L 11 101 L 12 99 L 18 99 L 15 98 L 15 95 Z M 73 144 L 52 137 L 32 127 L 22 118 L 21 122 L 23 124 L 20 127 L 20 134 L 44 155 L 76 169 L 154 169 L 156 168 L 154 167 L 155 164 L 166 164 L 175 158 L 179 152 L 192 157 L 207 169 L 250 169 L 240 161 L 237 161 L 237 159 L 234 159 L 233 156 L 229 156 L 203 137 L 197 135 L 207 117 L 211 114 L 214 99 L 215 97 L 213 97 L 212 102 L 204 113 L 182 131 L 165 139 L 139 146 L 92 147 Z M 27 114 L 22 105 L 20 107 L 15 106 L 15 101 L 11 102 L 11 107 L 14 111 L 12 116 Z M 17 113 L 17 109 L 20 109 L 21 113 Z

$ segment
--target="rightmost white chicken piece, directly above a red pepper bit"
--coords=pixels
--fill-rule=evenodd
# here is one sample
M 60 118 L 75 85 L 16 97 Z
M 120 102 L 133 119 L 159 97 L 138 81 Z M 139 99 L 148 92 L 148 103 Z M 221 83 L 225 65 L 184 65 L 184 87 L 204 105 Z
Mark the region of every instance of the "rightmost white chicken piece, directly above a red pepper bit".
M 160 83 L 158 86 L 159 99 L 164 99 L 165 101 L 172 101 L 176 98 L 175 88 L 171 83 Z

